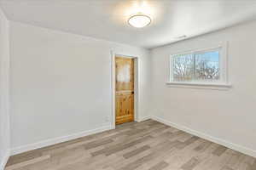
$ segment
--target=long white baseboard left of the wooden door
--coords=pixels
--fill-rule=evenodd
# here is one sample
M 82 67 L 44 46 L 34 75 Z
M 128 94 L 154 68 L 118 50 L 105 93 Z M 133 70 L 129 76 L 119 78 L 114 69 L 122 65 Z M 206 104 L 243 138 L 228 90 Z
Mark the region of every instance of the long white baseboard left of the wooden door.
M 88 130 L 88 131 L 84 131 L 81 133 L 74 133 L 71 135 L 67 135 L 67 136 L 62 136 L 59 138 L 55 138 L 55 139 L 47 139 L 44 141 L 40 141 L 38 143 L 34 143 L 34 144 L 26 144 L 20 147 L 16 147 L 10 150 L 10 154 L 11 156 L 14 156 L 16 154 L 20 154 L 29 150 L 36 150 L 39 148 L 43 148 L 52 144 L 59 144 L 61 142 L 67 142 L 68 140 L 72 140 L 72 139 L 78 139 L 84 136 L 88 136 L 90 134 L 95 134 L 95 133 L 101 133 L 107 130 L 113 129 L 113 127 L 111 125 L 109 126 L 104 126 L 104 127 L 98 127 L 96 129 L 92 129 L 92 130 Z

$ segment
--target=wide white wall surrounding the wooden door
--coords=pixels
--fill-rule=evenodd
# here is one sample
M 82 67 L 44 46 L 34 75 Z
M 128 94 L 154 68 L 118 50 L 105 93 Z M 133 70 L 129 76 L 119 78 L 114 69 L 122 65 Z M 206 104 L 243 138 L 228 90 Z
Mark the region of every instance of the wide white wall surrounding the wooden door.
M 13 154 L 110 127 L 111 50 L 138 57 L 138 118 L 148 116 L 148 50 L 13 21 L 10 42 Z

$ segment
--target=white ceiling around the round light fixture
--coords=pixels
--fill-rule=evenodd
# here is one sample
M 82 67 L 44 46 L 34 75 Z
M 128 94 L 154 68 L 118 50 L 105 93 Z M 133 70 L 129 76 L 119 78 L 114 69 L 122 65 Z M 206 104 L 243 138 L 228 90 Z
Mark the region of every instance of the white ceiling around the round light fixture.
M 256 0 L 0 0 L 9 20 L 154 48 L 256 19 Z M 127 24 L 143 12 L 153 22 Z

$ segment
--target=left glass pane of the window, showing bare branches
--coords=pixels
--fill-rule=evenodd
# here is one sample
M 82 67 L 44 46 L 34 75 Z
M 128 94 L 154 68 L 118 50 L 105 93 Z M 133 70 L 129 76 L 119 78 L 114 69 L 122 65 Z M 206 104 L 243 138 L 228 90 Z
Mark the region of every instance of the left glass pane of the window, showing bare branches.
M 193 80 L 193 54 L 178 54 L 172 56 L 172 77 L 174 82 L 189 82 Z

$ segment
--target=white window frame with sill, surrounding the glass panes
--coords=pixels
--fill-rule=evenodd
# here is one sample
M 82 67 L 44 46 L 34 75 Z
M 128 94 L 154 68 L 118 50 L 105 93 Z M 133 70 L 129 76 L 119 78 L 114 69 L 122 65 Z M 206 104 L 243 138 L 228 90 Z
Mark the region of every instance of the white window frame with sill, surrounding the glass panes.
M 212 46 L 213 48 L 202 48 L 202 49 L 196 49 L 196 50 L 189 50 L 186 52 L 171 54 L 169 57 L 169 74 L 168 74 L 168 81 L 166 84 L 169 87 L 174 88 L 212 88 L 212 89 L 227 89 L 231 88 L 231 85 L 229 83 L 228 79 L 228 54 L 227 54 L 227 42 L 218 45 L 218 46 Z M 173 81 L 172 77 L 172 60 L 173 56 L 178 54 L 201 54 L 201 53 L 207 53 L 212 51 L 219 51 L 219 76 L 220 79 L 218 81 L 209 81 L 209 82 L 201 82 L 201 81 L 192 81 L 192 82 L 175 82 Z

